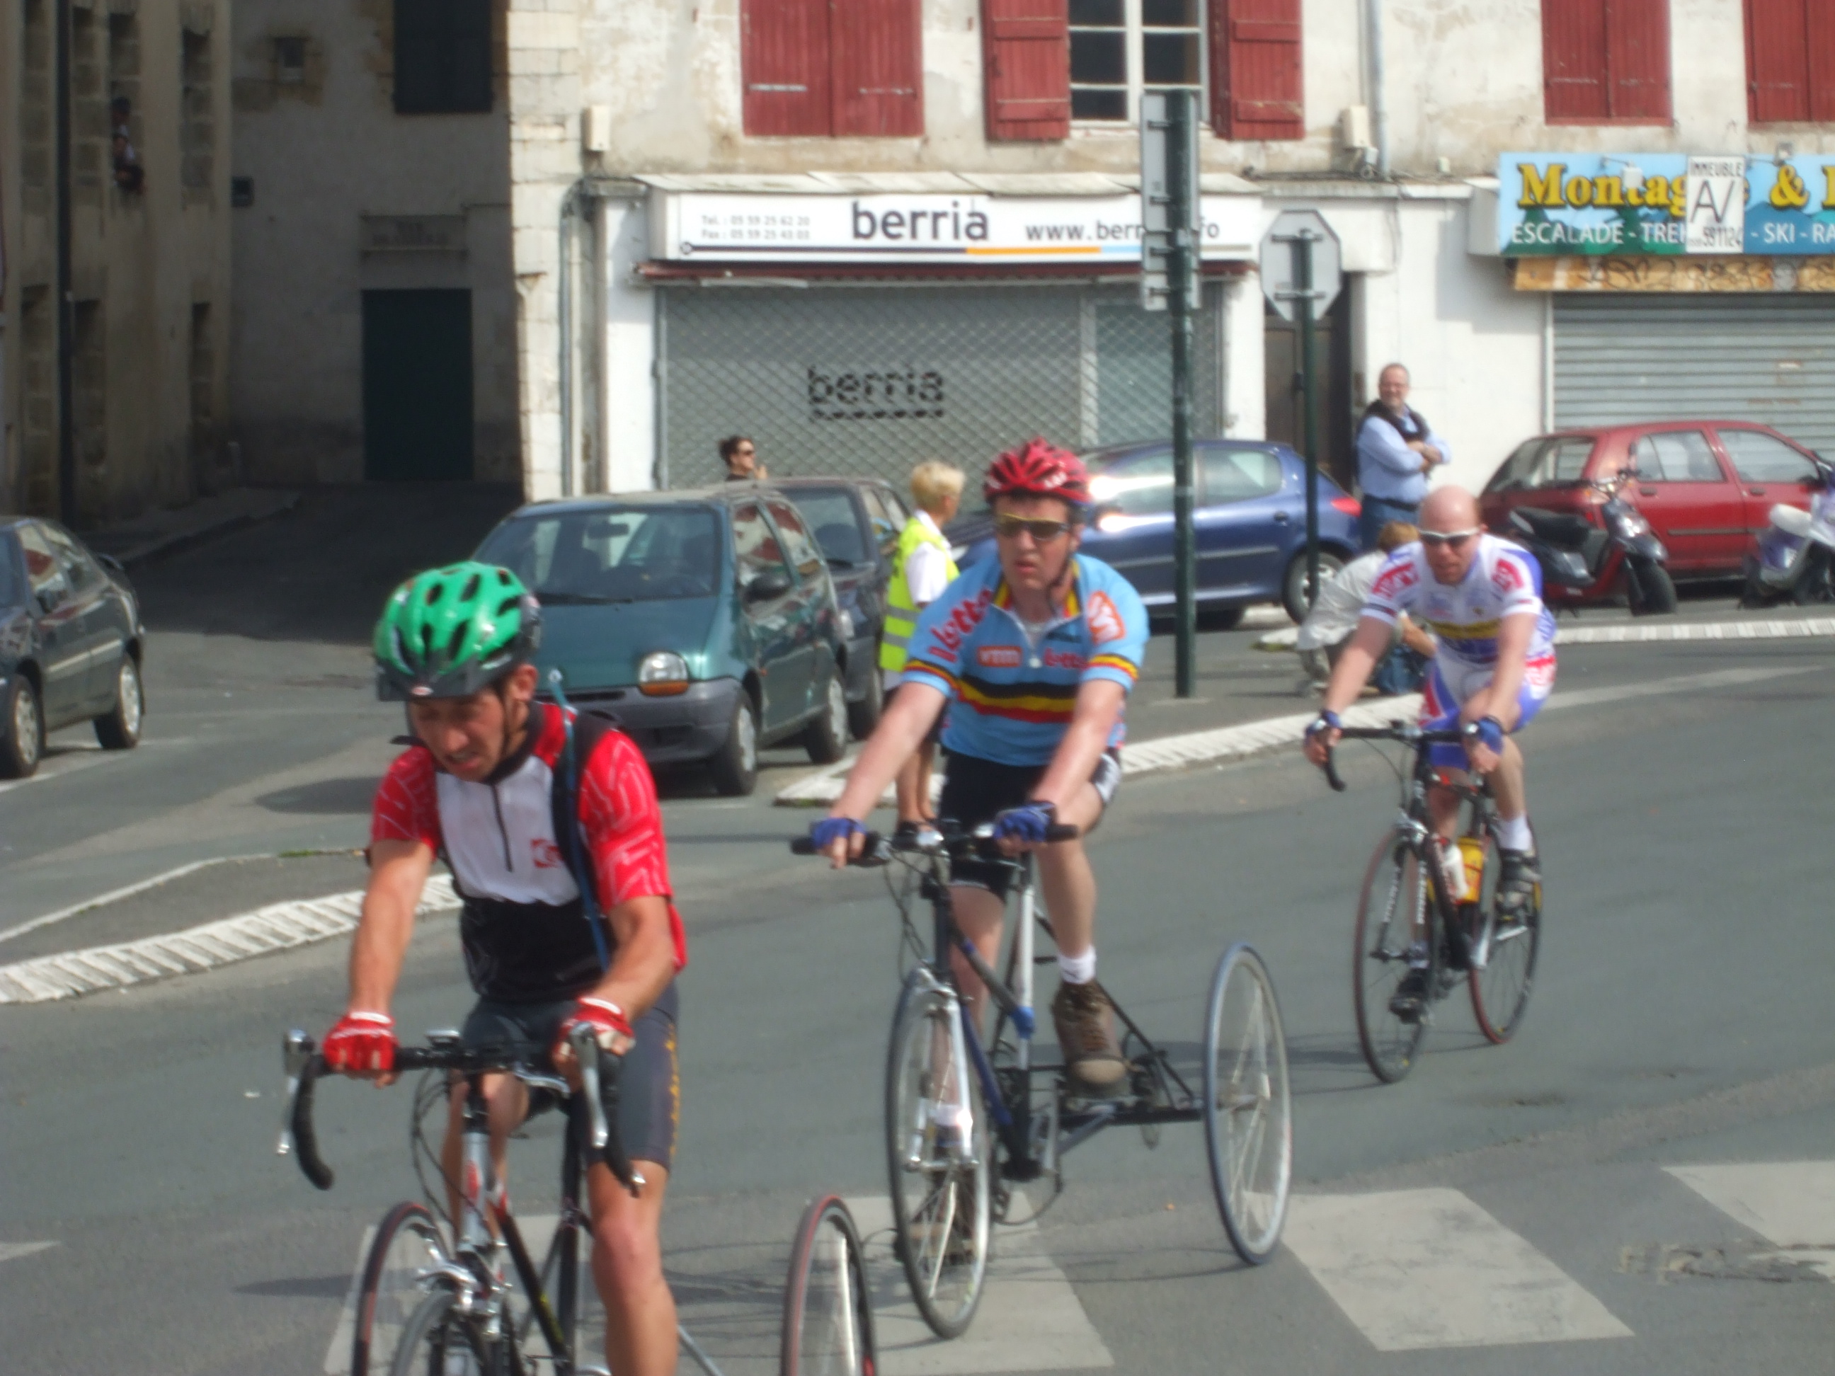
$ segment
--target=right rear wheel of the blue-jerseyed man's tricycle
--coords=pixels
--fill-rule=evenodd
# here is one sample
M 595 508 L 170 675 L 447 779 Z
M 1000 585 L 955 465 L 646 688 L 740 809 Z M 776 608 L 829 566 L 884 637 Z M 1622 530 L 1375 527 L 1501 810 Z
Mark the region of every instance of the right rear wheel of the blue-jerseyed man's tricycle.
M 1217 961 L 1204 1026 L 1204 1141 L 1229 1244 L 1261 1266 L 1281 1242 L 1294 1176 L 1286 1037 L 1273 980 L 1239 941 Z

